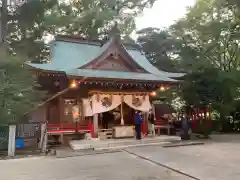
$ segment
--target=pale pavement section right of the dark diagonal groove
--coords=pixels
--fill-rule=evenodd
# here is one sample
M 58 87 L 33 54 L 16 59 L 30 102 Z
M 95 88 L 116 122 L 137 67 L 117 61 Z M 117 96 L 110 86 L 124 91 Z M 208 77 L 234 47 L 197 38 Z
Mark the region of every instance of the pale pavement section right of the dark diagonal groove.
M 240 179 L 240 143 L 237 141 L 222 140 L 197 146 L 152 146 L 126 150 L 201 180 Z

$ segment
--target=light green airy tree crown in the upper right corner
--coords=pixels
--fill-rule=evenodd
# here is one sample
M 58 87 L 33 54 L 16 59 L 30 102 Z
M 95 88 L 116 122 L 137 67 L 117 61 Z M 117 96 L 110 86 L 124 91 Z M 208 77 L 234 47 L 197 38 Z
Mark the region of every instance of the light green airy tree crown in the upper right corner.
M 212 65 L 223 71 L 240 67 L 239 9 L 228 0 L 200 0 L 171 27 L 182 41 L 185 67 Z

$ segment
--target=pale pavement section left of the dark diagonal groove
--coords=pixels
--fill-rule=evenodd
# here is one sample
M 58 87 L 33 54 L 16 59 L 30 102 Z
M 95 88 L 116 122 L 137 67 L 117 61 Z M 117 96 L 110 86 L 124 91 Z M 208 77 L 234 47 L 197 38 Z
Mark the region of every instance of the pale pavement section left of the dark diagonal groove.
M 2 160 L 0 167 L 6 180 L 190 180 L 125 152 Z

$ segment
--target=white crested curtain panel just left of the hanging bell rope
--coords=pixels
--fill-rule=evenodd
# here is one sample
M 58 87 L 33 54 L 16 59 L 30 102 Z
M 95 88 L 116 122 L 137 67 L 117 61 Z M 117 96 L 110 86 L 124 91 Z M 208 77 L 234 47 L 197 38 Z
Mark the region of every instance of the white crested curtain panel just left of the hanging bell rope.
M 92 96 L 93 114 L 111 111 L 121 104 L 120 95 L 94 94 Z

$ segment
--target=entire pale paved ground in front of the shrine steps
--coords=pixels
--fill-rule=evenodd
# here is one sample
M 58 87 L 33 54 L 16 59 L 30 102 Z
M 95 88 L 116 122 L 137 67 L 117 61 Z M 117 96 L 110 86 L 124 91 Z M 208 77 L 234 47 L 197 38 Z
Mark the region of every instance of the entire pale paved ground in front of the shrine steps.
M 2 160 L 0 173 L 7 180 L 239 180 L 239 152 L 240 136 L 223 135 L 196 146 L 146 146 L 69 158 Z

